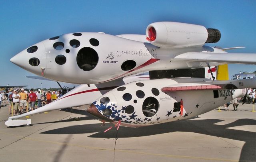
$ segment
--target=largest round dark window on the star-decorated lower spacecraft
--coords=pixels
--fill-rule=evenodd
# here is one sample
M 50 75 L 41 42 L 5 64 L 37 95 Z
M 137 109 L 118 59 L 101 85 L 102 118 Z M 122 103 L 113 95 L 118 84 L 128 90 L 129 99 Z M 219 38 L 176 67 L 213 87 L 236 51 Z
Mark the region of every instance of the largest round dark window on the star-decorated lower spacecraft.
M 151 117 L 156 114 L 159 108 L 159 102 L 154 97 L 148 97 L 142 104 L 142 112 L 146 117 Z

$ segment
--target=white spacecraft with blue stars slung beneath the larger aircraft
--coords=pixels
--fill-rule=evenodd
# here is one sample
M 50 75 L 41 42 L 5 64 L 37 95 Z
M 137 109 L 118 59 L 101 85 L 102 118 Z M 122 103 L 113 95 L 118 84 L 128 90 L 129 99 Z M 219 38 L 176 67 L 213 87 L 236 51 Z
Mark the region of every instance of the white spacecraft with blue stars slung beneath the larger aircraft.
M 246 86 L 256 86 L 255 80 L 246 80 L 244 85 L 238 81 L 175 78 L 132 82 L 107 92 L 86 111 L 101 120 L 114 124 L 120 121 L 121 126 L 129 127 L 183 120 L 244 96 Z M 228 87 L 232 89 L 225 89 Z

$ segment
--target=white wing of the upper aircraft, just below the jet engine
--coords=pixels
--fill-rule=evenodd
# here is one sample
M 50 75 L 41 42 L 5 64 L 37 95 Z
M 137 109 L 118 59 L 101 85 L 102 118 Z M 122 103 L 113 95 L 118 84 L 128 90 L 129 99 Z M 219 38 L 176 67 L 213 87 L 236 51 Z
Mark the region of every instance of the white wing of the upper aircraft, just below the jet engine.
M 220 62 L 231 64 L 256 64 L 254 53 L 213 53 L 213 52 L 187 52 L 174 57 L 173 60 Z

